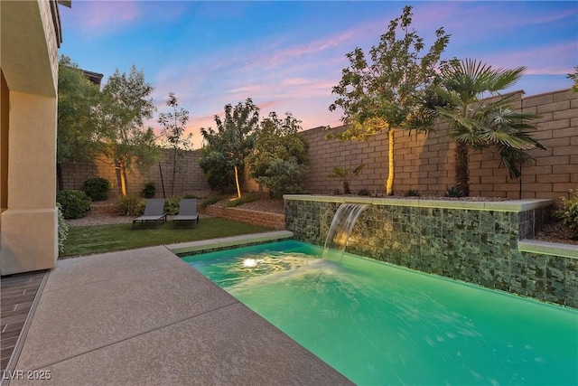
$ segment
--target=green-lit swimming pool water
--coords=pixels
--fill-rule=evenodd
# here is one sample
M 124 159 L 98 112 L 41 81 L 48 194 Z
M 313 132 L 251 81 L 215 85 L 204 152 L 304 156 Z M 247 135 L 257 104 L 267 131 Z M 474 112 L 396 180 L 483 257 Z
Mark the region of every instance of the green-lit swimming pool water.
M 578 384 L 573 309 L 321 256 L 289 240 L 184 260 L 361 385 Z

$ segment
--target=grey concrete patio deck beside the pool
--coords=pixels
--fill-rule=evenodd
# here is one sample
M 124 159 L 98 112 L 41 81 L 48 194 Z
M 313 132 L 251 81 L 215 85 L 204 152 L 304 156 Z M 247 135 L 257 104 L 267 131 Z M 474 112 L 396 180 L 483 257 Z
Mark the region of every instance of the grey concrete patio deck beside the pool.
M 59 260 L 41 289 L 3 385 L 352 384 L 166 247 Z

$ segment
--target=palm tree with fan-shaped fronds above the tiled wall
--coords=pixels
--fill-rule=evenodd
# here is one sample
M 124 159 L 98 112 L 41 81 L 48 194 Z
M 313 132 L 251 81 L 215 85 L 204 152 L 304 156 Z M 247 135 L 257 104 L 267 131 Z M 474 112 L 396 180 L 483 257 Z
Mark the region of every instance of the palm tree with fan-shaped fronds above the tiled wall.
M 501 162 L 510 178 L 519 178 L 521 165 L 534 158 L 527 150 L 545 147 L 530 136 L 534 128 L 529 122 L 535 114 L 513 111 L 511 95 L 499 91 L 508 89 L 526 71 L 492 69 L 480 61 L 449 61 L 441 69 L 442 87 L 438 94 L 446 105 L 438 107 L 438 114 L 450 123 L 450 137 L 456 142 L 455 183 L 465 195 L 470 194 L 468 150 L 496 146 Z

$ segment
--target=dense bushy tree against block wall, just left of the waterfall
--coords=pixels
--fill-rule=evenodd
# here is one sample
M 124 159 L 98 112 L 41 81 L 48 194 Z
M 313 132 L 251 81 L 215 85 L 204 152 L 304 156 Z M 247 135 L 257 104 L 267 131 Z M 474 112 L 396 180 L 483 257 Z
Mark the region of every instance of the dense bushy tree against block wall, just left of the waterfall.
M 255 151 L 247 156 L 249 175 L 274 197 L 303 191 L 309 145 L 299 134 L 300 124 L 291 113 L 286 113 L 284 119 L 275 111 L 269 113 L 256 134 Z

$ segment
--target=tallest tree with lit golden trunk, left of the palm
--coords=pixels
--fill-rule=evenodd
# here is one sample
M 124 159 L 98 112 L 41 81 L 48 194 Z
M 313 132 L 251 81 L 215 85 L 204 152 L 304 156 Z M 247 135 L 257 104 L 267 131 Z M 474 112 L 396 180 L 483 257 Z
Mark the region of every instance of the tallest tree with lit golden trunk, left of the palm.
M 329 107 L 331 111 L 342 108 L 341 120 L 349 127 L 328 137 L 368 140 L 387 132 L 387 195 L 394 193 L 396 130 L 427 131 L 433 127 L 436 67 L 450 41 L 450 35 L 440 28 L 435 42 L 424 52 L 424 39 L 411 28 L 411 11 L 411 6 L 405 6 L 401 16 L 389 23 L 379 44 L 369 50 L 369 60 L 360 48 L 346 55 L 350 66 L 333 87 L 339 98 Z

